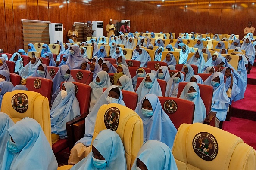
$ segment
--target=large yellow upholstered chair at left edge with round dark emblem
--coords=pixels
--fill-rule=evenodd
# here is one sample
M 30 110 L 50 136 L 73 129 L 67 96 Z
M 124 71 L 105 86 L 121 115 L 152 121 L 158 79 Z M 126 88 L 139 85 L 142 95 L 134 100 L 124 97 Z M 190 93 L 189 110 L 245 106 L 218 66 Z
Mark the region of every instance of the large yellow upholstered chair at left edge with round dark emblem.
M 9 115 L 14 123 L 25 117 L 35 119 L 41 125 L 50 146 L 52 146 L 50 108 L 47 97 L 34 91 L 7 92 L 3 96 L 1 112 Z

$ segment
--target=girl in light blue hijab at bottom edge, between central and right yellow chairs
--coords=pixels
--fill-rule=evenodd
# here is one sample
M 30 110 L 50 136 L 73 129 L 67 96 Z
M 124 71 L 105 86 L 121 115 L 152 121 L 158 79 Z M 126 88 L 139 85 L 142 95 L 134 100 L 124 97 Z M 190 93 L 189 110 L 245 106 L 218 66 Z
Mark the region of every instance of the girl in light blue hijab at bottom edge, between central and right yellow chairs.
M 131 170 L 140 170 L 142 162 L 148 170 L 178 170 L 172 150 L 162 142 L 148 140 L 140 148 Z M 138 167 L 139 166 L 139 167 Z

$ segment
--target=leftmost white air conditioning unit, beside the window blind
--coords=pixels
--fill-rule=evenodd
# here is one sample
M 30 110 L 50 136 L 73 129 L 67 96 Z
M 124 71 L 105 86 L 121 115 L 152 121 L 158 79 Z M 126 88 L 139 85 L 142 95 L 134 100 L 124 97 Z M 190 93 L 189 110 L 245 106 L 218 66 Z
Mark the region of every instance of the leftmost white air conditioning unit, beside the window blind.
M 54 44 L 58 40 L 63 42 L 63 24 L 49 24 L 49 36 L 50 44 Z

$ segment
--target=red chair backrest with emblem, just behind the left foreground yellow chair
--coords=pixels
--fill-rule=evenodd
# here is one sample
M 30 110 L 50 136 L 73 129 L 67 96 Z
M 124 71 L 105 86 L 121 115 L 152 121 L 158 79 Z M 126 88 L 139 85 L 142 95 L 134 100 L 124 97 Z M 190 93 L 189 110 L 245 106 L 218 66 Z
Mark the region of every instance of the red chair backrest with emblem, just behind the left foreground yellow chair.
M 48 98 L 48 101 L 52 100 L 53 93 L 53 81 L 41 77 L 28 77 L 26 87 L 29 91 L 34 91 L 42 94 Z

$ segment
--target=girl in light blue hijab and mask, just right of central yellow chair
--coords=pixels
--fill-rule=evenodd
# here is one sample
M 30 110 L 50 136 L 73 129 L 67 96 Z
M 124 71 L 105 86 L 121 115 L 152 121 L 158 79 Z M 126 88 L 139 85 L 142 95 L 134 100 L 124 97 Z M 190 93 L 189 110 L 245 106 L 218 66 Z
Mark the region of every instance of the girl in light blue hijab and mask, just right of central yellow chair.
M 155 94 L 147 94 L 134 110 L 143 121 L 144 139 L 158 140 L 172 149 L 177 129 Z

